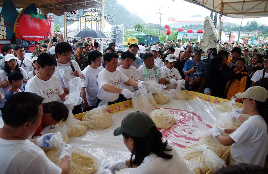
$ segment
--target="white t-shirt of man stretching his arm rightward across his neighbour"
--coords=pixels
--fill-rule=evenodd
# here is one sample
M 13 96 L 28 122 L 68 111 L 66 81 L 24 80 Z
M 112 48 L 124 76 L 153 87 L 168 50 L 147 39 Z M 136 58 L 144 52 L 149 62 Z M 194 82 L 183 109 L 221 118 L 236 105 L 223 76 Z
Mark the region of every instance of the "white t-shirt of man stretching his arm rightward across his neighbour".
M 98 75 L 98 99 L 106 102 L 114 102 L 118 99 L 119 94 L 104 91 L 103 85 L 108 84 L 116 88 L 120 88 L 120 84 L 127 82 L 129 78 L 125 76 L 121 71 L 109 72 L 104 68 Z

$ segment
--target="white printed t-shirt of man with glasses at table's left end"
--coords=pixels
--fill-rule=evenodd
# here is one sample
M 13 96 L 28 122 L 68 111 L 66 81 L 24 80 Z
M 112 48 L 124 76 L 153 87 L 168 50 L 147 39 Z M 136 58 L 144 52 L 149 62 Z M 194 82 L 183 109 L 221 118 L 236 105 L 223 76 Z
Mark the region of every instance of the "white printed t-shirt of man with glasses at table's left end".
M 39 79 L 36 75 L 28 80 L 26 83 L 26 92 L 35 93 L 44 98 L 44 103 L 57 101 L 58 96 L 64 93 L 59 79 L 52 75 L 52 77 L 45 81 Z

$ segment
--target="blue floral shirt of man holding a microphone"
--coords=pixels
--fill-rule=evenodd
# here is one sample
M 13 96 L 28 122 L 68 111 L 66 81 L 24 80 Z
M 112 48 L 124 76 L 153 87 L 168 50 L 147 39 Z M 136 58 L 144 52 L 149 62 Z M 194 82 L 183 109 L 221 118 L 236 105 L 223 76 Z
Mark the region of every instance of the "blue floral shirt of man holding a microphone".
M 194 67 L 194 60 L 187 60 L 185 62 L 182 72 L 188 71 Z M 207 69 L 207 64 L 200 61 L 197 65 L 197 70 L 185 77 L 185 88 L 187 90 L 196 91 L 202 84 L 203 75 Z

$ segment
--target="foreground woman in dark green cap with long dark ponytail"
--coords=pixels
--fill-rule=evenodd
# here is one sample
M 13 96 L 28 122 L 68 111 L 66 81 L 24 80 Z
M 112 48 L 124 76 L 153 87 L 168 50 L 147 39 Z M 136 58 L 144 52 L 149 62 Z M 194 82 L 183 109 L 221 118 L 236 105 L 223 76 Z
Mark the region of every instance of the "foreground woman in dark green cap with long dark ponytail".
M 122 173 L 184 173 L 193 174 L 182 157 L 162 134 L 155 123 L 144 112 L 128 114 L 114 135 L 123 135 L 124 144 L 131 152 L 130 160 L 121 161 L 109 167 L 110 170 L 123 169 Z M 134 157 L 135 156 L 135 157 Z

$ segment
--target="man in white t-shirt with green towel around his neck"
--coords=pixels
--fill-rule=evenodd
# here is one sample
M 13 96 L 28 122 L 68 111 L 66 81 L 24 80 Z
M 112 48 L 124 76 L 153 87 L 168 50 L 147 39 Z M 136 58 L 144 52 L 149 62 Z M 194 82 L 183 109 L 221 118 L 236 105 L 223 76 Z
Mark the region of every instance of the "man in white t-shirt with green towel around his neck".
M 144 64 L 137 69 L 140 80 L 145 82 L 154 80 L 156 83 L 166 85 L 160 66 L 154 63 L 154 54 L 152 52 L 145 52 L 142 58 Z

